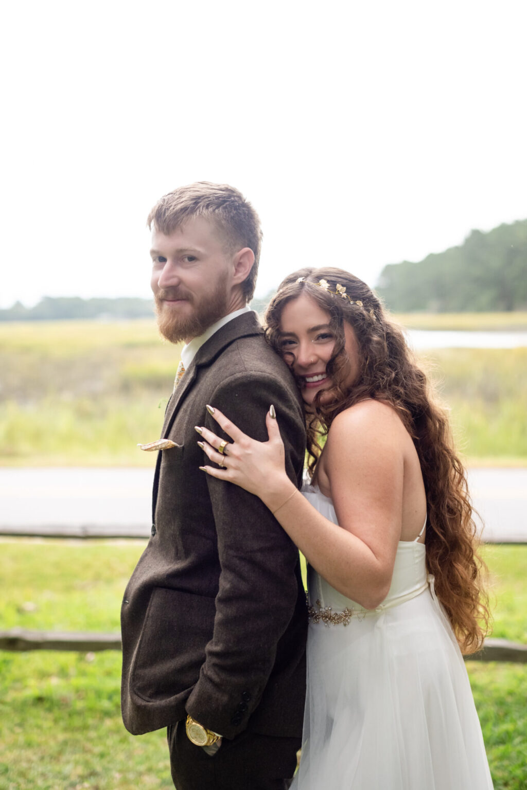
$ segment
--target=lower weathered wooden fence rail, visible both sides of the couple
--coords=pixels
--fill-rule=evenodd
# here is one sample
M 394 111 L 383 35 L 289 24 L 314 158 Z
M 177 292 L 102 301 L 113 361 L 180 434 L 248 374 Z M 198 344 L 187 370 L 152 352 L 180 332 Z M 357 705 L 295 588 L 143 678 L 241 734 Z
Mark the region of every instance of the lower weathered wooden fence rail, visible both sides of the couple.
M 24 652 L 27 650 L 73 650 L 78 653 L 96 653 L 99 650 L 120 650 L 120 634 L 96 634 L 82 631 L 30 631 L 12 628 L 0 631 L 0 649 Z M 486 639 L 479 653 L 466 656 L 466 660 L 512 661 L 527 664 L 527 645 L 518 645 L 506 639 Z

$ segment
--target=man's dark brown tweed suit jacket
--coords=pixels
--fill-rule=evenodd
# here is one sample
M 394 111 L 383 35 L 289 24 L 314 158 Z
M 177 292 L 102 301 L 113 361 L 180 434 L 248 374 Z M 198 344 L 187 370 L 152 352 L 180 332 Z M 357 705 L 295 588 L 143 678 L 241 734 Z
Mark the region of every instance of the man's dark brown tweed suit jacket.
M 265 440 L 277 409 L 288 476 L 301 482 L 303 409 L 254 313 L 200 348 L 168 404 L 152 536 L 122 603 L 122 717 L 134 735 L 190 713 L 227 738 L 302 734 L 306 600 L 299 555 L 261 500 L 199 470 L 205 404 Z M 224 438 L 229 438 L 224 436 Z M 206 460 L 206 459 L 205 459 Z

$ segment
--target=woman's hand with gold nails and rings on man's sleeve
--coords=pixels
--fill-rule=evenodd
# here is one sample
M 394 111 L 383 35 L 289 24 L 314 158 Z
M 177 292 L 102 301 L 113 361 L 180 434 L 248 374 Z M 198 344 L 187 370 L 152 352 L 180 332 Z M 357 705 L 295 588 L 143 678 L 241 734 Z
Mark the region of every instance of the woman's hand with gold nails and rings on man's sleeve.
M 210 461 L 219 466 L 201 466 L 208 475 L 228 480 L 262 499 L 273 512 L 296 487 L 285 472 L 284 442 L 280 436 L 274 407 L 269 408 L 265 424 L 269 441 L 257 442 L 240 431 L 219 409 L 207 406 L 220 428 L 232 438 L 224 442 L 205 427 L 196 426 L 198 442 Z M 221 452 L 220 452 L 221 451 Z

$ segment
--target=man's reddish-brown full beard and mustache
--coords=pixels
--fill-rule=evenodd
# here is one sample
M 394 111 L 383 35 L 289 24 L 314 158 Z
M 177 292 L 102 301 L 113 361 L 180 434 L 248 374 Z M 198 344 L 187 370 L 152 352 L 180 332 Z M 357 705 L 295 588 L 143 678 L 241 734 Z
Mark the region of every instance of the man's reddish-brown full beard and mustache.
M 171 343 L 180 343 L 191 337 L 199 337 L 216 321 L 223 318 L 228 310 L 227 276 L 216 284 L 216 288 L 209 297 L 201 299 L 198 304 L 190 295 L 168 289 L 160 291 L 155 296 L 157 326 L 163 337 Z M 185 316 L 178 315 L 170 307 L 165 308 L 163 299 L 186 299 L 194 310 Z

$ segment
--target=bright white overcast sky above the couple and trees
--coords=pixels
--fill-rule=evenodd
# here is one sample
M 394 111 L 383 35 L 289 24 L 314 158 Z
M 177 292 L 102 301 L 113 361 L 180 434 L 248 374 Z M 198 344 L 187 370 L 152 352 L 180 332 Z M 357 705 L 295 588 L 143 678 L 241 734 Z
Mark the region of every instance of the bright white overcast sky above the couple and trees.
M 0 306 L 148 298 L 145 218 L 196 180 L 258 210 L 257 295 L 525 219 L 526 29 L 525 0 L 6 4 Z

